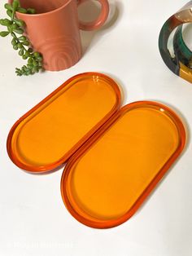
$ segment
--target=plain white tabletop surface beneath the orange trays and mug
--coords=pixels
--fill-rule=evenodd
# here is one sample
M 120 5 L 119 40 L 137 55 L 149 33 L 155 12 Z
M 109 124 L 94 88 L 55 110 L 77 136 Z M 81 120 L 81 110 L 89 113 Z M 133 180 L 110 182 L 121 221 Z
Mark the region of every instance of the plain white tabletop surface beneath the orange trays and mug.
M 1 18 L 5 2 L 0 1 Z M 11 38 L 0 38 L 0 255 L 192 255 L 192 85 L 168 70 L 158 50 L 164 21 L 186 1 L 110 3 L 116 22 L 108 20 L 97 33 L 82 33 L 84 45 L 89 44 L 85 55 L 63 72 L 15 77 L 15 67 L 24 61 L 12 50 Z M 20 116 L 69 77 L 87 71 L 115 78 L 124 90 L 124 104 L 142 99 L 168 104 L 185 120 L 189 135 L 184 154 L 141 210 L 108 230 L 85 227 L 68 213 L 59 191 L 62 169 L 26 174 L 6 149 L 8 132 Z

